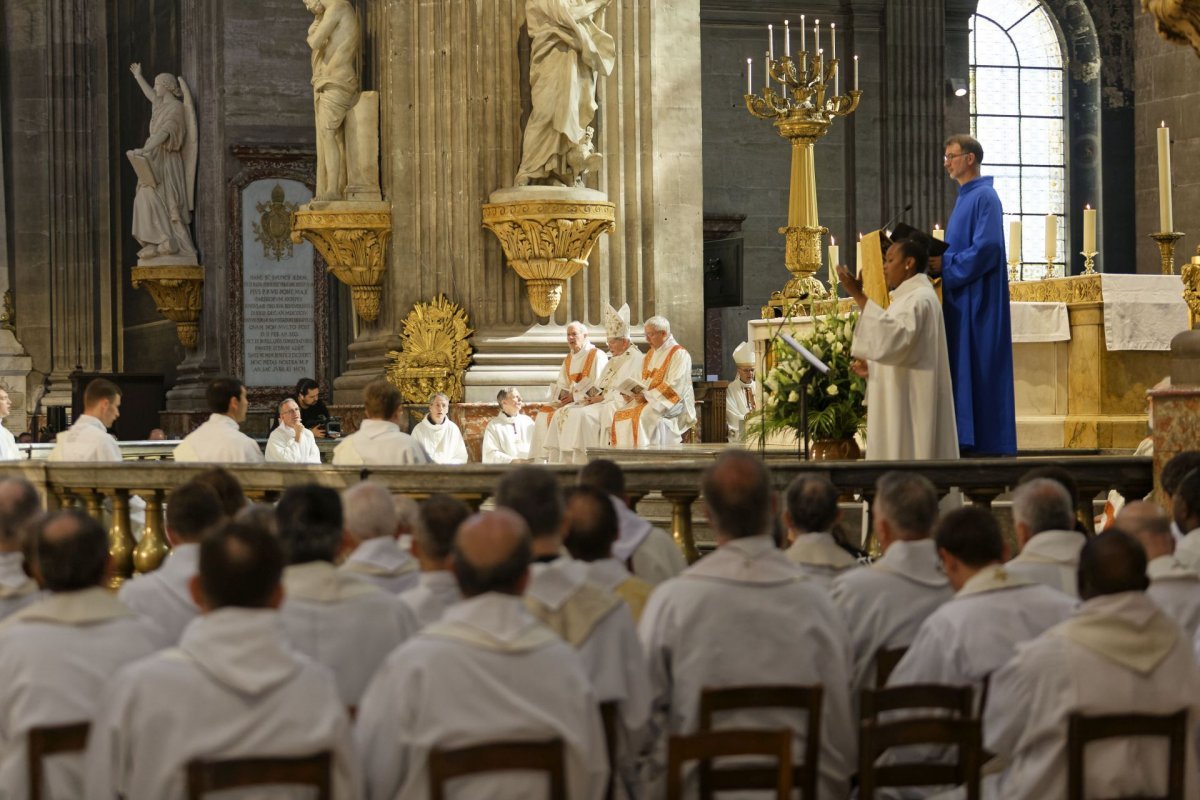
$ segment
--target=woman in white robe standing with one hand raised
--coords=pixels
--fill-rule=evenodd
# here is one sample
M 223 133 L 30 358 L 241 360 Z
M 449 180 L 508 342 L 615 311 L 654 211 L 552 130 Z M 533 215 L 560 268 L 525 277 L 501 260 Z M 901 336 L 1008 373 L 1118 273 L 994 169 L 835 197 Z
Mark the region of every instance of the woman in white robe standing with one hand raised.
M 916 239 L 888 248 L 887 309 L 863 294 L 850 270 L 838 267 L 846 293 L 863 311 L 851 353 L 858 360 L 856 372 L 866 378 L 868 458 L 959 457 L 946 325 L 925 276 L 928 264 L 929 254 Z

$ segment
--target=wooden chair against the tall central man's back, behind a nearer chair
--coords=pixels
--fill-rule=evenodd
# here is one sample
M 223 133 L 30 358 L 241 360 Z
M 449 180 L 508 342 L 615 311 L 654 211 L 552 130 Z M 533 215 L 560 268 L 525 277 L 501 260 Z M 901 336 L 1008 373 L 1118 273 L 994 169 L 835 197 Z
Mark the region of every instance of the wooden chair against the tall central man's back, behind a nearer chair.
M 821 686 L 731 686 L 706 688 L 700 694 L 700 729 L 713 730 L 713 715 L 740 709 L 794 709 L 808 714 L 804 763 L 792 766 L 792 786 L 804 800 L 817 800 L 821 758 Z M 776 783 L 769 766 L 700 766 L 701 793 L 732 789 L 770 789 Z

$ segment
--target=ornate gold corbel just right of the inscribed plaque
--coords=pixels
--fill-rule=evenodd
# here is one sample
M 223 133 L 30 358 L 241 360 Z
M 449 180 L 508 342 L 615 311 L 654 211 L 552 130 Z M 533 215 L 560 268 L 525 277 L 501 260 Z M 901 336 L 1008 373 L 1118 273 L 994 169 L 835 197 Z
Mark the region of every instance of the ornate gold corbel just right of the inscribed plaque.
M 388 203 L 372 203 L 378 210 L 302 206 L 292 215 L 292 241 L 307 239 L 338 281 L 350 287 L 354 311 L 368 323 L 379 317 L 385 257 L 391 237 L 391 210 Z

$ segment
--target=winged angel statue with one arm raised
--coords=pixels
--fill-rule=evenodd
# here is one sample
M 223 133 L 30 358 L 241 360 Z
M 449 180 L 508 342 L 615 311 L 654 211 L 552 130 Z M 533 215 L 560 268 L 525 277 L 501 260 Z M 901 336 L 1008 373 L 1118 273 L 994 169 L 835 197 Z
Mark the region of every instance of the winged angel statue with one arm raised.
M 125 155 L 138 175 L 133 198 L 133 237 L 142 245 L 138 264 L 196 264 L 188 225 L 196 197 L 196 106 L 182 78 L 167 72 L 142 77 L 142 65 L 130 72 L 154 106 L 150 138 Z M 182 98 L 182 102 L 180 102 Z

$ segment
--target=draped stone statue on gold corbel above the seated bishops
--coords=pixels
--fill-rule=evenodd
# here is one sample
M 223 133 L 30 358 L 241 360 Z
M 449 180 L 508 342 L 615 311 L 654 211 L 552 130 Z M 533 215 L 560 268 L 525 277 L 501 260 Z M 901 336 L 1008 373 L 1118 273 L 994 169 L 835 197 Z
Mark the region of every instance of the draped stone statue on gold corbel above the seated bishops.
M 527 0 L 533 112 L 517 186 L 583 186 L 586 172 L 599 163 L 589 126 L 598 108 L 596 78 L 612 73 L 617 43 L 595 17 L 611 1 Z

